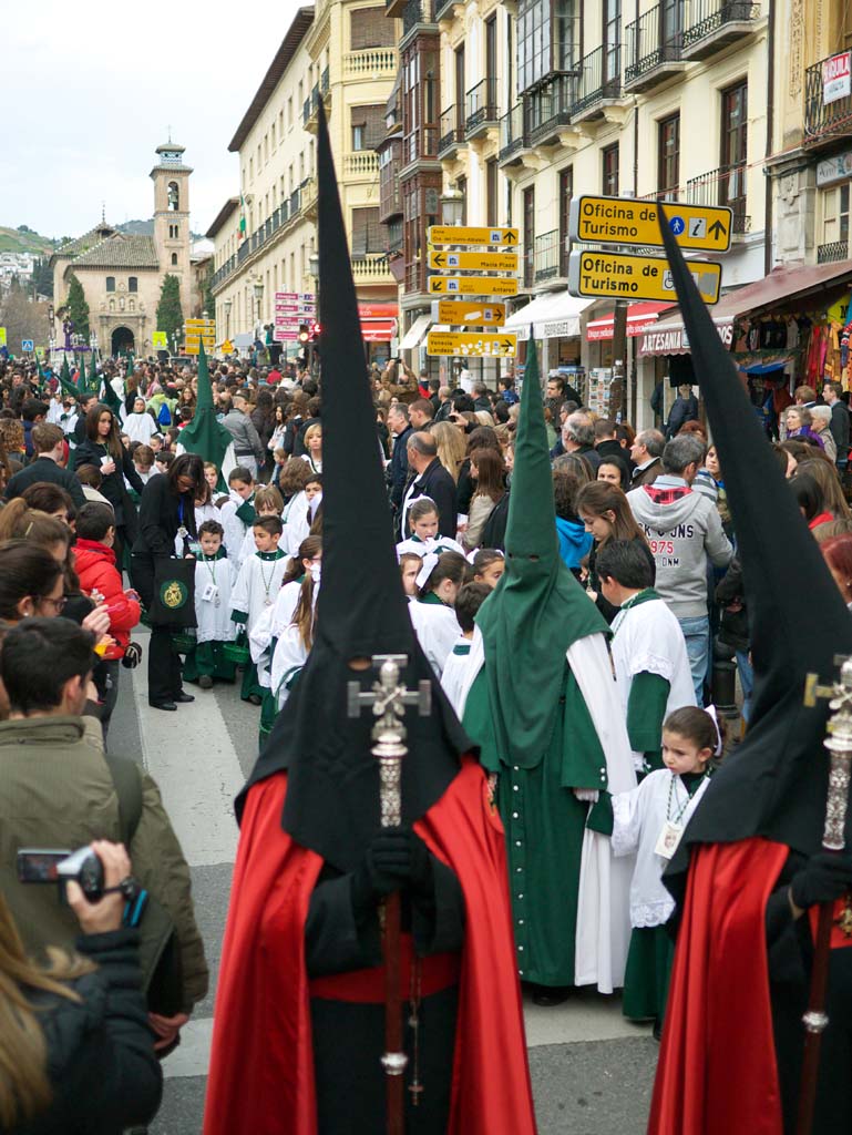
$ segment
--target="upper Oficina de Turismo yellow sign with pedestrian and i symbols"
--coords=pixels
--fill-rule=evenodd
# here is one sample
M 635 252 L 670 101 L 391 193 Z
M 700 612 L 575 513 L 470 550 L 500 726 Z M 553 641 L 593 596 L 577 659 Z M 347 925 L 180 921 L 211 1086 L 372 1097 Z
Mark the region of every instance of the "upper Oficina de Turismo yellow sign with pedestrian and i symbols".
M 716 205 L 691 205 L 663 201 L 668 227 L 682 249 L 727 252 L 731 247 L 733 210 Z M 589 244 L 663 245 L 656 201 L 630 197 L 596 197 L 583 194 L 571 202 L 568 235 Z

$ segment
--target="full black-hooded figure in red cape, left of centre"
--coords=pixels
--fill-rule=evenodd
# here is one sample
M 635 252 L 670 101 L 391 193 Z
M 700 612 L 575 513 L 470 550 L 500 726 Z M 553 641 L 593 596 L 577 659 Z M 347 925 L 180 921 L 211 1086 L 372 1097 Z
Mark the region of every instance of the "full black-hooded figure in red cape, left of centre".
M 399 891 L 408 1133 L 531 1135 L 506 860 L 471 743 L 419 648 L 396 562 L 324 115 L 319 148 L 323 555 L 314 645 L 248 784 L 217 998 L 205 1135 L 383 1128 L 380 903 Z M 368 690 L 405 655 L 403 824 L 382 830 Z M 411 1007 L 408 1006 L 411 1001 Z M 417 1051 L 414 1052 L 414 1043 Z

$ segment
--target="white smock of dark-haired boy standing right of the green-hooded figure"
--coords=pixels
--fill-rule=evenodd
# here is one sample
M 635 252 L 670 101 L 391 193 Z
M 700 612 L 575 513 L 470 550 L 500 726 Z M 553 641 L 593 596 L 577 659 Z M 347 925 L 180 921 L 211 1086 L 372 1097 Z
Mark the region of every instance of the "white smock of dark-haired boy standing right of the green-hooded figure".
M 613 620 L 615 681 L 627 721 L 627 703 L 636 674 L 657 674 L 669 683 L 666 717 L 683 706 L 694 706 L 686 640 L 681 624 L 663 599 L 649 599 L 618 612 Z M 641 770 L 643 755 L 633 751 L 633 766 Z

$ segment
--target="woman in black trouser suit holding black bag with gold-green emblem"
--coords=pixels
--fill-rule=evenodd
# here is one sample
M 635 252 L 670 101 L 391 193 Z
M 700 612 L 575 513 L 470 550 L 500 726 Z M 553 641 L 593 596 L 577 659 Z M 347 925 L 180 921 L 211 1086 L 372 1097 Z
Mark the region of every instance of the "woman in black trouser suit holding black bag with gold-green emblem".
M 157 560 L 175 555 L 180 538 L 184 555 L 192 556 L 188 540 L 197 538 L 195 498 L 204 484 L 204 462 L 195 453 L 182 453 L 169 471 L 152 477 L 140 502 L 140 532 L 133 545 L 133 585 L 147 609 L 154 600 Z M 147 651 L 147 703 L 154 709 L 175 711 L 179 703 L 194 701 L 182 686 L 180 658 L 171 642 L 174 628 L 151 628 Z

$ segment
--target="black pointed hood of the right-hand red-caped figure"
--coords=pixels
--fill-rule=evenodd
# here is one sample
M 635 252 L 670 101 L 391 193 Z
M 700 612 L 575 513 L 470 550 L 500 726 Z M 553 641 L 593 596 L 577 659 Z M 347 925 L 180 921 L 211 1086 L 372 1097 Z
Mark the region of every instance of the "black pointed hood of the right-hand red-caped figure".
M 684 844 L 762 835 L 804 855 L 821 844 L 827 704 L 803 704 L 809 673 L 836 676 L 852 619 L 761 430 L 668 224 L 660 228 L 695 377 L 725 476 L 751 627 L 754 697 L 745 738 L 709 784 Z M 686 866 L 686 848 L 672 865 Z M 668 876 L 667 876 L 668 881 Z

